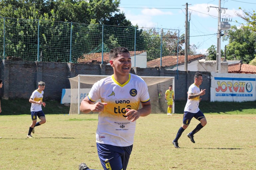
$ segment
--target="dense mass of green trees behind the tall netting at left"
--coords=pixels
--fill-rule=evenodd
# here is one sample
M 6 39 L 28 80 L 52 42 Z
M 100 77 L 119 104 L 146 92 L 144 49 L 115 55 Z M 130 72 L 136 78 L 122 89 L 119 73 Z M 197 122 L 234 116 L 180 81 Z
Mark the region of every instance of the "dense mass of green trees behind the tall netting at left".
M 34 57 L 35 61 L 40 51 L 41 61 L 68 62 L 70 50 L 73 55 L 80 56 L 82 53 L 101 51 L 102 44 L 104 52 L 116 46 L 125 46 L 130 51 L 146 50 L 148 61 L 160 55 L 184 55 L 184 35 L 179 37 L 177 32 L 171 30 L 161 35 L 155 29 L 132 26 L 118 9 L 119 4 L 120 0 L 0 1 L 0 30 L 5 27 L 5 44 L 3 34 L 0 35 L 0 44 L 8 49 L 5 50 L 6 56 L 26 56 L 25 60 Z M 108 27 L 120 29 L 121 33 L 104 32 Z M 92 34 L 103 34 L 104 42 L 101 37 L 97 39 Z M 128 38 L 124 40 L 124 37 Z M 70 41 L 75 45 L 70 47 Z M 87 49 L 79 51 L 81 44 Z M 31 56 L 27 55 L 27 51 L 31 52 Z M 58 58 L 59 54 L 65 59 Z

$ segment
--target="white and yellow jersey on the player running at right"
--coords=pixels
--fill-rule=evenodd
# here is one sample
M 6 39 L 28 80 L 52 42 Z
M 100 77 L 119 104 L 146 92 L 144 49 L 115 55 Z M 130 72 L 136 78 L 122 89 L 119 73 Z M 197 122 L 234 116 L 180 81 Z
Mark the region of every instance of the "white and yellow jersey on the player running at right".
M 196 86 L 194 83 L 190 85 L 188 94 L 198 94 L 200 93 L 200 88 Z M 187 100 L 186 106 L 184 108 L 184 111 L 191 112 L 191 113 L 197 113 L 199 109 L 199 101 L 200 101 L 200 96 L 192 98 Z

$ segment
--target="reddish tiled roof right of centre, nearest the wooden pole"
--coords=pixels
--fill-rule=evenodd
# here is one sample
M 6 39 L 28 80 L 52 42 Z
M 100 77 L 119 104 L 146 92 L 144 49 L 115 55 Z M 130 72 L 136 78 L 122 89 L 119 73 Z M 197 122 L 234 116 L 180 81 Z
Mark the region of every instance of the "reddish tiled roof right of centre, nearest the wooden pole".
M 188 62 L 205 58 L 205 55 L 188 55 Z M 185 63 L 185 55 L 180 55 L 178 58 L 178 64 Z M 165 56 L 162 57 L 162 67 L 176 66 L 177 56 Z M 160 58 L 147 62 L 147 67 L 160 67 Z

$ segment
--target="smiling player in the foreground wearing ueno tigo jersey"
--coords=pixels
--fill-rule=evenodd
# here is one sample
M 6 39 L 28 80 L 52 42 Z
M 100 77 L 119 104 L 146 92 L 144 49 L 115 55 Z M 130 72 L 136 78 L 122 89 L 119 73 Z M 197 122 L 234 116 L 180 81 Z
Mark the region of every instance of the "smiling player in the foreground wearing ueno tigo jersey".
M 151 113 L 147 84 L 130 74 L 131 56 L 127 48 L 110 50 L 114 74 L 96 82 L 80 105 L 84 113 L 99 112 L 96 146 L 104 170 L 126 170 L 132 152 L 136 120 Z M 100 102 L 96 102 L 100 99 Z M 139 109 L 139 105 L 142 108 Z M 85 163 L 79 170 L 89 169 Z

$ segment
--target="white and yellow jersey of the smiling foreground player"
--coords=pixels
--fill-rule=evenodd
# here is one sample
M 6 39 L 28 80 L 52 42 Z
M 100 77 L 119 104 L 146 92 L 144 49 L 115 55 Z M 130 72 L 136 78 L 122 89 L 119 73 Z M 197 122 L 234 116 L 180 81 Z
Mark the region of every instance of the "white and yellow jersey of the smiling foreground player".
M 126 119 L 125 108 L 138 110 L 140 102 L 149 101 L 147 84 L 139 76 L 129 74 L 129 80 L 119 84 L 114 76 L 96 82 L 88 96 L 107 103 L 98 115 L 96 142 L 114 146 L 133 144 L 136 121 Z

